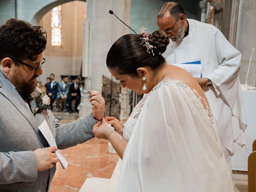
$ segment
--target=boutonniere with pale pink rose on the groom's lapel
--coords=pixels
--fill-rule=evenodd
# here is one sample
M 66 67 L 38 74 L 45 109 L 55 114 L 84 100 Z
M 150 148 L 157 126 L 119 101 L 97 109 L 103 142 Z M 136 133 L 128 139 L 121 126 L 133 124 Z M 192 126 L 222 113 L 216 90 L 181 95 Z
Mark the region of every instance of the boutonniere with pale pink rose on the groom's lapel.
M 44 95 L 40 93 L 39 96 L 32 98 L 36 100 L 36 108 L 33 111 L 33 115 L 35 116 L 37 113 L 43 113 L 44 110 L 50 110 L 50 98 L 48 95 Z

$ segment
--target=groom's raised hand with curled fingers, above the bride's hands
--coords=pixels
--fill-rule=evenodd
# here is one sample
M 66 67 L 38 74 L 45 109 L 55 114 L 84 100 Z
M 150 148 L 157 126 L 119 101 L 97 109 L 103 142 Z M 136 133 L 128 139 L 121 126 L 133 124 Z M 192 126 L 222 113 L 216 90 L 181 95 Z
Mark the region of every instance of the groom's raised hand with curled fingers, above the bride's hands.
M 92 104 L 92 116 L 98 120 L 102 120 L 105 110 L 105 100 L 98 91 L 91 90 L 88 92 L 90 102 Z

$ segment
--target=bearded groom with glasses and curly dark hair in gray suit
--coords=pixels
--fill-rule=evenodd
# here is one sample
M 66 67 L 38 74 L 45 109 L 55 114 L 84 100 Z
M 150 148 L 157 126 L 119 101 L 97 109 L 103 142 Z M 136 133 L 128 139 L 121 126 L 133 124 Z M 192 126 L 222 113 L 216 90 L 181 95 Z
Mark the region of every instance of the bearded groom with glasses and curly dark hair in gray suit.
M 47 122 L 58 148 L 65 149 L 92 138 L 95 119 L 103 118 L 105 102 L 96 91 L 89 92 L 92 114 L 70 124 L 60 124 L 51 110 L 32 113 L 39 106 L 34 97 L 42 93 L 36 78 L 46 61 L 45 48 L 46 31 L 40 26 L 17 19 L 0 26 L 0 191 L 49 190 L 57 147 L 48 146 L 38 129 L 42 122 Z

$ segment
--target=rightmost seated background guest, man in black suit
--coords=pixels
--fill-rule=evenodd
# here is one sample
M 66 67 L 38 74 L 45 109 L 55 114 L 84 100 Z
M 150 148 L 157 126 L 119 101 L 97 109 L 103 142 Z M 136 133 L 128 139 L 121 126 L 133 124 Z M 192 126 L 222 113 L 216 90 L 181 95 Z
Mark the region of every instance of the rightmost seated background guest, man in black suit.
M 75 111 L 78 112 L 77 107 L 78 107 L 78 104 L 79 104 L 80 99 L 81 99 L 80 80 L 81 80 L 80 77 L 76 77 L 75 82 L 70 85 L 69 92 L 68 92 L 68 99 L 67 99 L 68 106 L 69 106 L 68 113 L 73 113 L 71 102 L 74 99 L 76 100 Z

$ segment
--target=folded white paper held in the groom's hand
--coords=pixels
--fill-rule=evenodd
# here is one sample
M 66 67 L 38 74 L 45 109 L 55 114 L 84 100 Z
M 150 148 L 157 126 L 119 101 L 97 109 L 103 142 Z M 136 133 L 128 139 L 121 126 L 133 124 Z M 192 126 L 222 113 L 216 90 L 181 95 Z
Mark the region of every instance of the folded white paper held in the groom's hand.
M 53 138 L 52 132 L 50 131 L 50 128 L 49 128 L 46 120 L 44 120 L 38 128 L 42 132 L 44 138 L 46 138 L 48 144 L 50 146 L 57 147 L 57 144 Z M 60 150 L 57 150 L 55 153 L 60 160 L 60 164 L 61 164 L 62 168 L 66 169 L 68 167 L 68 161 L 64 158 L 64 156 L 62 156 L 62 154 L 60 153 Z

